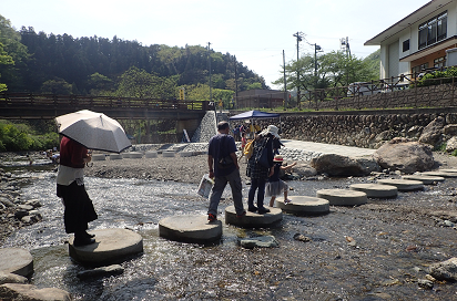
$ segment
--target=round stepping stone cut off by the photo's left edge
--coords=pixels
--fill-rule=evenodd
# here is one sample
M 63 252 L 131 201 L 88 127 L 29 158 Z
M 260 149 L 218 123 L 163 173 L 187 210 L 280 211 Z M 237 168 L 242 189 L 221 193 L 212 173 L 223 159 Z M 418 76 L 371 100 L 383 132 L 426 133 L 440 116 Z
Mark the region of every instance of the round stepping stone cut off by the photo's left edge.
M 29 277 L 33 273 L 33 257 L 21 248 L 0 249 L 0 271 Z

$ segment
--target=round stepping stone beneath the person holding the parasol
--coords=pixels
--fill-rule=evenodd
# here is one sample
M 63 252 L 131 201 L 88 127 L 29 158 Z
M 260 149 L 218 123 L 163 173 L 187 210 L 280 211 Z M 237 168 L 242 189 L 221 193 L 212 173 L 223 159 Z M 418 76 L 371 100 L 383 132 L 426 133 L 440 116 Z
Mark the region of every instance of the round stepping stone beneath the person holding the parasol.
M 141 235 L 126 229 L 93 230 L 95 243 L 74 247 L 74 237 L 69 240 L 70 257 L 91 266 L 105 266 L 122 262 L 124 258 L 143 251 Z

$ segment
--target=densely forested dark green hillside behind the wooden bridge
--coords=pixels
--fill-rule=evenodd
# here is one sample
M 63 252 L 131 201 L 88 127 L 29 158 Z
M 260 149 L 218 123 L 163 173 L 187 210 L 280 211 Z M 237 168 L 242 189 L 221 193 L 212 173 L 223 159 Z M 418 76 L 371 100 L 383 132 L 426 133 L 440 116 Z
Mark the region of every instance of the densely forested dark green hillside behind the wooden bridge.
M 185 87 L 186 97 L 207 98 L 209 55 L 214 97 L 228 101 L 235 77 L 238 91 L 266 89 L 263 77 L 230 53 L 201 45 L 142 45 L 116 37 L 37 33 L 24 27 L 16 31 L 0 15 L 0 83 L 11 92 L 173 98 Z

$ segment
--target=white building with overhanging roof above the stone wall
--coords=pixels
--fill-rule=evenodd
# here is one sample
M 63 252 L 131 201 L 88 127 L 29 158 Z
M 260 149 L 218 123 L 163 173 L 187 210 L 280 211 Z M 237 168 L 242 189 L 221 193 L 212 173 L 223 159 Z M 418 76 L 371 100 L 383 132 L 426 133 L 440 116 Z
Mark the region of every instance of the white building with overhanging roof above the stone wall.
M 380 45 L 379 79 L 444 66 L 457 46 L 457 0 L 433 0 L 365 45 Z

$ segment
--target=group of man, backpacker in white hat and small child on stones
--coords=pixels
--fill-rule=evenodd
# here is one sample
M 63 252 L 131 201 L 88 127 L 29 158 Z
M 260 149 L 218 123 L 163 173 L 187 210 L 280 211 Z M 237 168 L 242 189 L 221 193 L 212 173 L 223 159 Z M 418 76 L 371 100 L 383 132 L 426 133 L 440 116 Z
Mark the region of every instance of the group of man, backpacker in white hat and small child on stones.
M 228 135 L 230 126 L 227 122 L 217 124 L 219 134 L 210 139 L 207 163 L 210 177 L 214 178 L 214 186 L 210 196 L 209 220 L 217 219 L 217 206 L 227 183 L 232 188 L 233 201 L 236 217 L 246 215 L 243 207 L 242 180 L 240 176 L 240 165 L 236 157 L 236 145 L 232 136 Z M 247 160 L 246 175 L 251 178 L 251 188 L 247 198 L 247 210 L 264 215 L 270 209 L 264 206 L 265 187 L 266 196 L 272 197 L 270 207 L 274 206 L 277 195 L 284 193 L 284 203 L 287 204 L 287 184 L 280 179 L 281 169 L 295 166 L 295 163 L 283 167 L 283 157 L 278 155 L 278 149 L 283 145 L 280 142 L 278 128 L 268 125 L 264 131 L 258 131 L 253 142 L 253 153 Z M 228 163 L 227 163 L 228 162 Z M 257 193 L 256 206 L 254 205 L 255 193 Z

